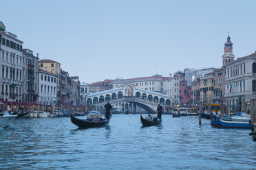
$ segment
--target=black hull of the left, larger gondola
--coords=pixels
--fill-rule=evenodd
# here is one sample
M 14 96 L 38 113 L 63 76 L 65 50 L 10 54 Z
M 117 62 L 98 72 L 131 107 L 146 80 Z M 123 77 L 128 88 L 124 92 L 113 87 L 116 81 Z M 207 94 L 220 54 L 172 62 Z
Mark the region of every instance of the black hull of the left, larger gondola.
M 81 127 L 81 128 L 87 128 L 87 127 L 101 127 L 104 125 L 107 125 L 109 123 L 109 120 L 103 119 L 103 121 L 100 122 L 94 122 L 94 121 L 87 121 L 85 119 L 77 119 L 76 117 L 70 115 L 71 122 L 74 123 L 74 125 Z

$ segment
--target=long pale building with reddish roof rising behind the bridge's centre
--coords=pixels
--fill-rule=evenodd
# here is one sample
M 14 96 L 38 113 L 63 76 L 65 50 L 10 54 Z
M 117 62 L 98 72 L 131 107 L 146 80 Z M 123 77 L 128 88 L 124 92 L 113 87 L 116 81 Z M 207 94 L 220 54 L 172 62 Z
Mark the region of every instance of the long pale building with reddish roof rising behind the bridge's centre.
M 169 79 L 169 77 L 162 77 L 162 75 L 153 75 L 150 77 L 137 77 L 124 80 L 114 80 L 113 88 L 125 86 L 126 84 L 132 84 L 136 88 L 141 88 L 157 93 L 163 93 L 163 82 Z

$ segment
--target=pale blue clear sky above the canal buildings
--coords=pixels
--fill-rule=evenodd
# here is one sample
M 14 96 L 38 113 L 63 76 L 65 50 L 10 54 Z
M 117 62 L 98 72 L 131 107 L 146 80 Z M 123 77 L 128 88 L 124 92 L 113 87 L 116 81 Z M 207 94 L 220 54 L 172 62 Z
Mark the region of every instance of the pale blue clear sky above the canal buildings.
M 235 58 L 256 50 L 256 1 L 0 0 L 0 21 L 40 59 L 92 83 L 209 66 L 229 35 Z

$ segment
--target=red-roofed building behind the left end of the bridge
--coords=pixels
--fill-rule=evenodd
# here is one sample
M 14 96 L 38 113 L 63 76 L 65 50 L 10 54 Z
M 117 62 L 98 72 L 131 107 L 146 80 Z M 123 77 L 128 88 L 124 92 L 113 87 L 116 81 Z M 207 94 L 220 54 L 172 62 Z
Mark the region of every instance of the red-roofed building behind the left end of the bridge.
M 100 91 L 110 90 L 113 88 L 113 81 L 114 80 L 104 80 L 103 82 L 94 82 L 89 84 L 89 93 L 97 93 Z

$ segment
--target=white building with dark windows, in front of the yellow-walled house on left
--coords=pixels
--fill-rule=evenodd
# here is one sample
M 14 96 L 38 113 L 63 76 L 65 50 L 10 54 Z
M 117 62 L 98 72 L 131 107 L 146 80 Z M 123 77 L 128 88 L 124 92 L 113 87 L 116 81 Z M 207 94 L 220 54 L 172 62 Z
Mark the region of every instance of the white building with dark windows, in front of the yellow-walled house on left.
M 39 69 L 39 104 L 56 104 L 58 76 Z

